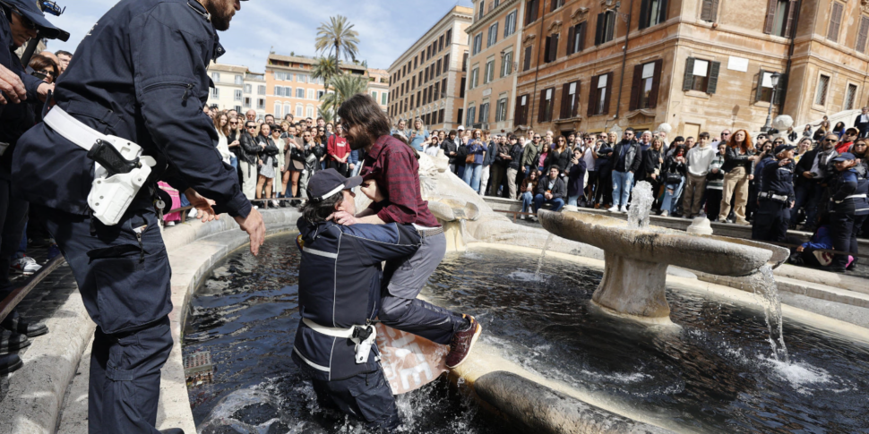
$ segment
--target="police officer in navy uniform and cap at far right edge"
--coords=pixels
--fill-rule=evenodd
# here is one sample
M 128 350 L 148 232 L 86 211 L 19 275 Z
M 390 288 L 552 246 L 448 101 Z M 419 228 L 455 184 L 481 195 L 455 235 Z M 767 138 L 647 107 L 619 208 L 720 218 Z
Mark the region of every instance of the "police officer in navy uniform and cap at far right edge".
M 854 154 L 845 152 L 833 158 L 837 174 L 830 182 L 830 226 L 832 229 L 833 250 L 847 251 L 857 255 L 857 232 L 863 227 L 869 215 L 869 180 L 865 164 L 858 163 Z M 833 256 L 830 271 L 845 272 L 848 255 Z

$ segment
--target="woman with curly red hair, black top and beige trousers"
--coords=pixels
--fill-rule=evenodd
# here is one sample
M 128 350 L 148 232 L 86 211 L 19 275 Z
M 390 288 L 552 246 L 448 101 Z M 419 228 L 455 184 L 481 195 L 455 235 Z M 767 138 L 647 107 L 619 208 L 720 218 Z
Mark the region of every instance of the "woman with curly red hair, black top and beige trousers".
M 718 220 L 727 222 L 731 204 L 736 215 L 736 224 L 748 226 L 745 219 L 745 205 L 748 203 L 748 182 L 754 177 L 755 150 L 752 138 L 745 130 L 739 130 L 727 141 L 727 152 L 724 155 L 724 191 L 721 197 L 721 213 Z M 736 198 L 734 195 L 736 194 Z M 732 202 L 731 202 L 732 200 Z

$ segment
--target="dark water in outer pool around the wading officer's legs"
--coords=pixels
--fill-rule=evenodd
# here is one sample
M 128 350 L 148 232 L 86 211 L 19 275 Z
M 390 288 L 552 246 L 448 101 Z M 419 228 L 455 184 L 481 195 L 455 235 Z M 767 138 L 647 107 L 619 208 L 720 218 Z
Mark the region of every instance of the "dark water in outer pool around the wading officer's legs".
M 230 255 L 191 301 L 184 354 L 210 351 L 213 381 L 188 387 L 202 434 L 365 432 L 323 411 L 314 388 L 290 359 L 299 320 L 295 236 L 270 238 L 260 256 Z M 438 379 L 400 396 L 404 432 L 515 432 Z

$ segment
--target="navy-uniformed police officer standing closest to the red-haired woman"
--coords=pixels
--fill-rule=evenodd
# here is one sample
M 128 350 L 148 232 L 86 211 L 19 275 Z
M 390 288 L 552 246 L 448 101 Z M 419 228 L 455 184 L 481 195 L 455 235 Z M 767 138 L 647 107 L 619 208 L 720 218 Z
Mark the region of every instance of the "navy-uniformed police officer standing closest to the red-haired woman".
M 794 207 L 794 145 L 779 145 L 773 150 L 776 161 L 761 169 L 752 238 L 782 242 L 787 236 L 790 209 Z

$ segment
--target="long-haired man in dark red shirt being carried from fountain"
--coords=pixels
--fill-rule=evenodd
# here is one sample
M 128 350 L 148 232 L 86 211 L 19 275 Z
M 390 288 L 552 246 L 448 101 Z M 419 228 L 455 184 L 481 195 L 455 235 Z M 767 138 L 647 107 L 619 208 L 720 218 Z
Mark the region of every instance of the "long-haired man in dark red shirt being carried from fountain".
M 336 212 L 340 225 L 358 223 L 412 224 L 421 237 L 413 255 L 389 260 L 383 270 L 380 320 L 391 328 L 425 337 L 437 344 L 450 345 L 446 366 L 464 362 L 482 332 L 477 320 L 459 315 L 417 299 L 426 280 L 435 272 L 446 252 L 443 227 L 422 200 L 419 189 L 419 164 L 412 150 L 390 135 L 390 123 L 383 110 L 366 94 L 349 98 L 338 109 L 350 149 L 365 149 L 362 176 L 383 191 L 381 202 L 354 215 Z

